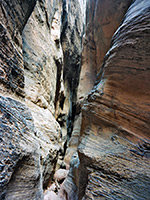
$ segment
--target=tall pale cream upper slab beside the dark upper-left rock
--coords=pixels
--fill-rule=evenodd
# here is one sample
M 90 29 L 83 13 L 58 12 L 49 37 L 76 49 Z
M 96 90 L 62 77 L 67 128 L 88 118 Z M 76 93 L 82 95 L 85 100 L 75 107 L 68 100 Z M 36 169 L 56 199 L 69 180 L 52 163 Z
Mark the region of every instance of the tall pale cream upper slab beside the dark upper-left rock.
M 37 1 L 23 31 L 26 98 L 53 114 L 57 74 L 62 73 L 60 20 L 59 1 Z

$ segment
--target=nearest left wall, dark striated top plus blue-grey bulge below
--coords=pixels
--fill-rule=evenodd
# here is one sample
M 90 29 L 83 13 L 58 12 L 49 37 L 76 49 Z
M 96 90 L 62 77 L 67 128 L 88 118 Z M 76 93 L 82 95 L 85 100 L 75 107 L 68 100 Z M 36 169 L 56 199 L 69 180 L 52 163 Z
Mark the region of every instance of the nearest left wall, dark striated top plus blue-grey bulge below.
M 22 31 L 35 1 L 1 1 L 0 199 L 42 199 L 39 143 L 25 96 Z M 16 100 L 15 100 L 16 99 Z

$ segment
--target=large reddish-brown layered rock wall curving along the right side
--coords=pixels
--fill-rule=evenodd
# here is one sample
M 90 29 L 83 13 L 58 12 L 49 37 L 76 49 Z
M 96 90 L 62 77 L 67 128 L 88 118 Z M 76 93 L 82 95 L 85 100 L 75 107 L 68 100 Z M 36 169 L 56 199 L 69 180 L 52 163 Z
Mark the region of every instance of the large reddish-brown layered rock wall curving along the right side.
M 79 199 L 150 197 L 149 7 L 132 3 L 84 102 Z

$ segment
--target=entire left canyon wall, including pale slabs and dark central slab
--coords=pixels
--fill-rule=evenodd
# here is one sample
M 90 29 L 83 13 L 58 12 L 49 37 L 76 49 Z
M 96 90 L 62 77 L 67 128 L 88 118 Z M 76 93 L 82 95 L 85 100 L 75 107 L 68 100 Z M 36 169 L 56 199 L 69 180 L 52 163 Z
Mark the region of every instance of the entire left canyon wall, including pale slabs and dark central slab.
M 65 30 L 65 1 L 0 3 L 0 198 L 43 199 L 43 187 L 62 163 L 66 120 L 76 101 L 84 1 L 66 2 Z

